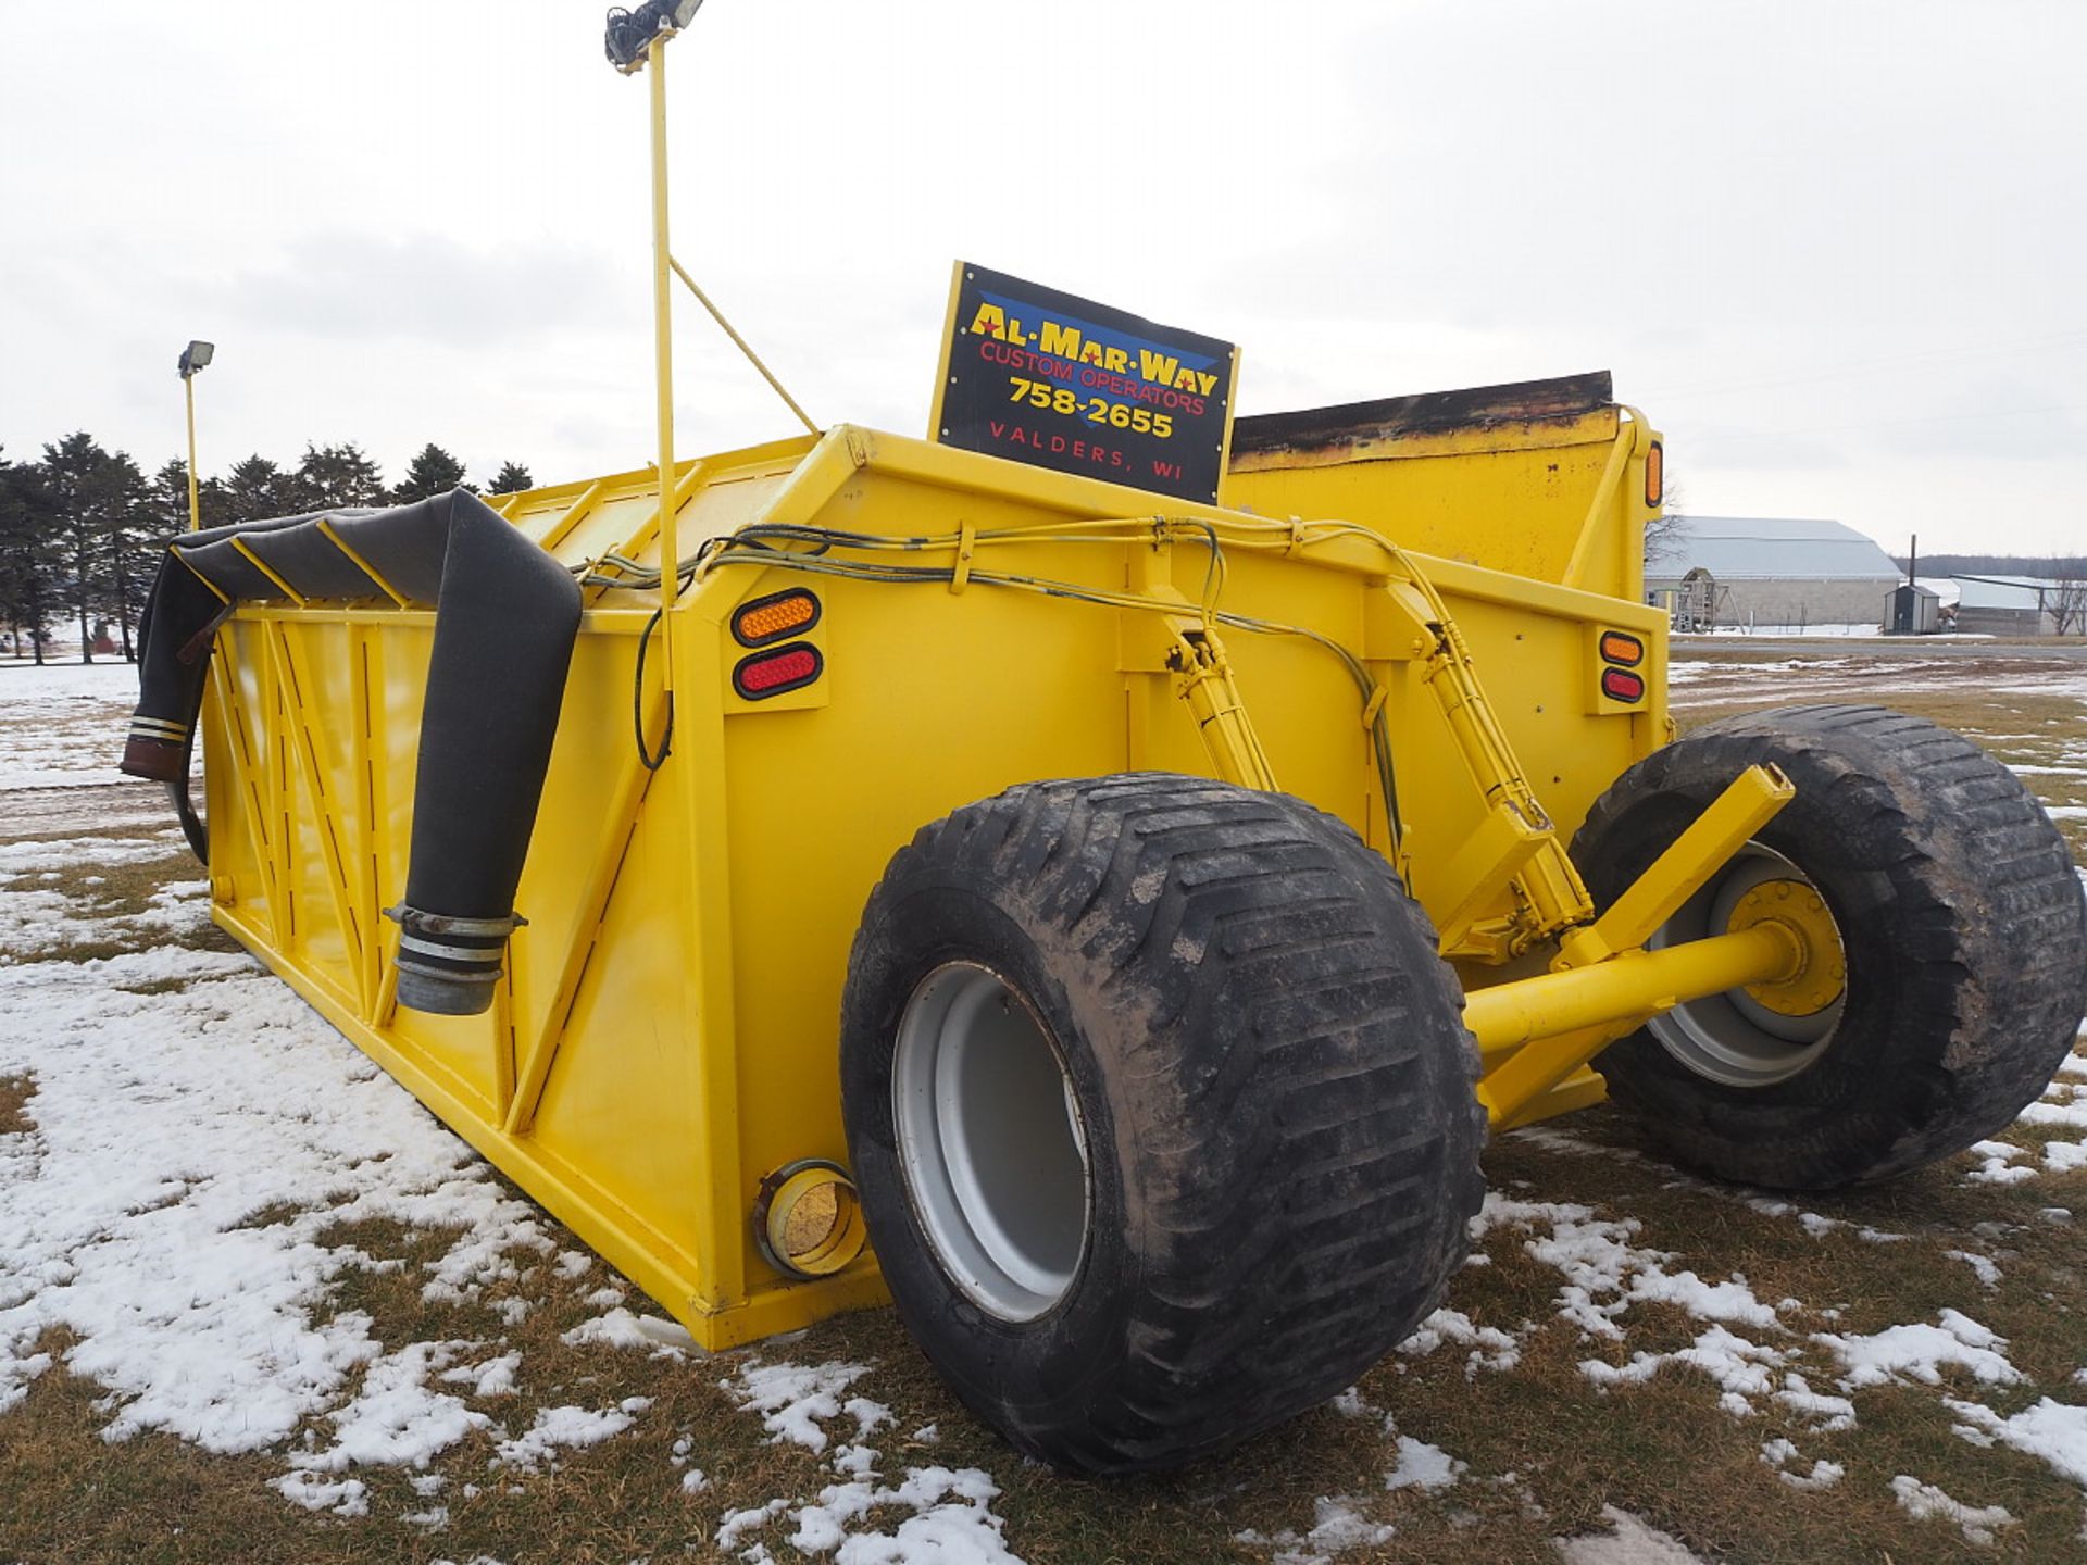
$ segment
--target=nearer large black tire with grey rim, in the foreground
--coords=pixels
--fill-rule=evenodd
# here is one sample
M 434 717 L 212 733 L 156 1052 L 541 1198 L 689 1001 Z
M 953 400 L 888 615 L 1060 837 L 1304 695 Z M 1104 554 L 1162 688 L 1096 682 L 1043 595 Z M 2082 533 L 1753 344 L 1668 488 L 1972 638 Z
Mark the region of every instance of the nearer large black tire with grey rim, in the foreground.
M 1336 1396 L 1465 1256 L 1461 1004 L 1392 868 L 1300 799 L 1144 772 L 927 826 L 841 1010 L 899 1319 L 973 1413 L 1081 1471 Z

